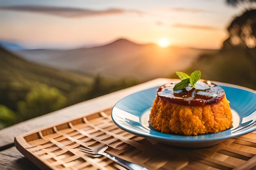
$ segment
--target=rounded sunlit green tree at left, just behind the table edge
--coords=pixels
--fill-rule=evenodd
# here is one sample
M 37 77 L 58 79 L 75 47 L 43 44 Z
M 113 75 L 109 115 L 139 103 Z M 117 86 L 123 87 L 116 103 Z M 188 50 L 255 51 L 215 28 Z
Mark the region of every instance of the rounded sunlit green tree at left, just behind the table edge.
M 65 107 L 66 97 L 57 88 L 46 84 L 32 88 L 24 101 L 18 102 L 18 112 L 22 121 L 53 112 Z

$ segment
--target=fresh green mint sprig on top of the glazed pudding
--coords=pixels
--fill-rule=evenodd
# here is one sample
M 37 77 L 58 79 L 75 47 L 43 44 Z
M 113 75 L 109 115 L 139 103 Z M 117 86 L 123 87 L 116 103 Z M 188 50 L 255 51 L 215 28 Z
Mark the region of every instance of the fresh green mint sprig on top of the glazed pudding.
M 189 83 L 193 88 L 195 88 L 195 83 L 198 82 L 198 80 L 200 80 L 200 77 L 201 77 L 201 71 L 199 70 L 194 71 L 193 73 L 191 73 L 190 76 L 183 72 L 176 72 L 176 74 L 180 77 L 181 82 L 177 83 L 173 87 L 173 91 L 178 91 L 183 88 L 186 88 L 187 86 L 189 86 Z

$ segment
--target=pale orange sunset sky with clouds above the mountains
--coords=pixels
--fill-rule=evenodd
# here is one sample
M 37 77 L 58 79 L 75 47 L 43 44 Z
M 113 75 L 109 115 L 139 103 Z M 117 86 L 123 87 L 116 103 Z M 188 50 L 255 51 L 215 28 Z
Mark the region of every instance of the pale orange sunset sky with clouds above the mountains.
M 77 48 L 127 38 L 218 49 L 240 13 L 224 0 L 0 0 L 0 40 Z

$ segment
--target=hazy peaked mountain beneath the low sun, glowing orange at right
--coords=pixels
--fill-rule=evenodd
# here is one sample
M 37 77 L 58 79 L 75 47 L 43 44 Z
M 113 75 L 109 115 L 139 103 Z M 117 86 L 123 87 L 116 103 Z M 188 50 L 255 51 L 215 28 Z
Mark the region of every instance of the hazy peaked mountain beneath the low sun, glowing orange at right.
M 33 62 L 85 75 L 103 75 L 114 79 L 133 77 L 146 81 L 182 71 L 196 60 L 199 54 L 214 51 L 174 46 L 161 48 L 155 44 L 136 44 L 120 39 L 93 48 L 35 49 L 17 53 Z

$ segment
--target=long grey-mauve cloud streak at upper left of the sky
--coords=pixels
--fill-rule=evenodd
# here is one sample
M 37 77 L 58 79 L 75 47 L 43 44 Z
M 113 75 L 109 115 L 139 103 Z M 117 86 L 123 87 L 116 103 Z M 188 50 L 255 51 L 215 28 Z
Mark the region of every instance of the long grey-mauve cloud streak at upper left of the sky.
M 104 9 L 104 10 L 92 10 L 92 9 L 82 9 L 82 8 L 75 8 L 75 7 L 53 7 L 53 6 L 35 6 L 35 5 L 2 6 L 0 7 L 0 10 L 43 13 L 43 14 L 49 14 L 49 15 L 57 15 L 57 16 L 66 17 L 66 18 L 118 15 L 122 13 L 143 14 L 143 12 L 141 11 L 129 10 L 129 9 L 110 8 L 110 9 Z

